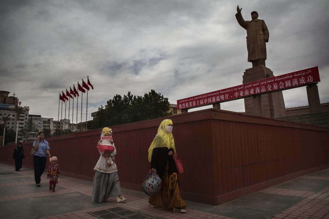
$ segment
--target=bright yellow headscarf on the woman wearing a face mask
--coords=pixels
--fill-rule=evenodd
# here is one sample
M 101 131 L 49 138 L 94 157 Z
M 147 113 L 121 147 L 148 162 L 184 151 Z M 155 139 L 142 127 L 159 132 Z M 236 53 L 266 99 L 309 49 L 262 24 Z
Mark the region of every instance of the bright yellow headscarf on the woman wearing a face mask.
M 161 122 L 158 128 L 158 134 L 154 137 L 153 142 L 148 148 L 148 161 L 150 163 L 152 159 L 153 149 L 156 147 L 167 147 L 168 149 L 173 148 L 176 152 L 174 136 L 171 132 L 168 134 L 168 132 L 165 130 L 165 127 L 169 124 L 172 124 L 172 121 L 169 119 L 165 119 Z

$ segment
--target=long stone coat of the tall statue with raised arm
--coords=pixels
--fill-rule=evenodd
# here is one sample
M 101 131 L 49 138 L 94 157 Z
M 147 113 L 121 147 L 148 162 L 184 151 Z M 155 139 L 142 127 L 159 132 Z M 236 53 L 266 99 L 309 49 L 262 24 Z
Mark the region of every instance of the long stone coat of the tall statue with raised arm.
M 247 30 L 248 62 L 257 59 L 266 59 L 266 43 L 264 38 L 268 39 L 269 32 L 265 21 L 260 19 L 245 21 L 241 13 L 236 13 L 235 17 L 240 26 Z

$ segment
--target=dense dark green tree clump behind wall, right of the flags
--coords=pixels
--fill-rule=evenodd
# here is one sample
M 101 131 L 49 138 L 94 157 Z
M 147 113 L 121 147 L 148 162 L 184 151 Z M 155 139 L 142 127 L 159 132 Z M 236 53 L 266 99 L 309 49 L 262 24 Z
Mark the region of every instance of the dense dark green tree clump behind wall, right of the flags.
M 100 106 L 97 116 L 89 127 L 101 128 L 172 115 L 172 112 L 167 111 L 169 111 L 169 101 L 161 93 L 151 90 L 144 96 L 134 96 L 129 91 L 123 97 L 115 95 L 113 99 L 106 102 L 105 106 Z

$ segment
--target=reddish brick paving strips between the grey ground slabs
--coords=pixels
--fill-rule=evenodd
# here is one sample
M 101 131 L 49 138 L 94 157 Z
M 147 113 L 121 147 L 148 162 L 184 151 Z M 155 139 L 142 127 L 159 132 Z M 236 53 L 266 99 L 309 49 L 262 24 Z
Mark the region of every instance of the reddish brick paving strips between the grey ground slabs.
M 12 172 L 13 166 L 7 164 L 0 163 L 0 170 L 4 173 Z M 34 182 L 34 174 L 32 169 L 24 168 L 24 171 L 19 172 L 20 176 L 15 174 L 1 175 L 0 180 L 8 180 L 12 179 L 12 183 L 1 183 L 0 187 L 10 187 L 17 185 L 31 185 L 35 184 Z M 22 177 L 29 177 L 31 180 L 27 182 L 14 182 L 15 179 L 19 179 Z M 313 179 L 313 180 L 329 180 L 329 177 L 323 176 L 303 176 L 300 179 Z M 75 178 L 64 177 L 59 179 L 58 186 L 61 186 L 64 189 L 58 189 L 56 192 L 51 191 L 42 191 L 42 192 L 33 192 L 26 194 L 16 194 L 10 196 L 1 196 L 0 194 L 0 202 L 11 202 L 13 200 L 18 199 L 28 199 L 31 197 L 42 197 L 42 196 L 57 196 L 69 193 L 81 193 L 91 197 L 92 186 L 87 186 L 82 183 L 77 183 Z M 41 184 L 47 185 L 48 180 L 46 179 L 46 174 L 42 175 Z M 329 184 L 328 184 L 329 185 Z M 317 192 L 311 191 L 303 191 L 303 190 L 292 190 L 292 189 L 283 189 L 277 187 L 269 187 L 264 190 L 259 191 L 260 193 L 267 194 L 276 194 L 283 196 L 295 196 L 304 198 L 302 201 L 297 204 L 292 205 L 290 208 L 285 209 L 284 211 L 278 213 L 277 215 L 271 217 L 273 219 L 281 219 L 281 218 L 324 218 L 329 219 L 329 186 L 324 187 L 322 190 Z M 56 215 L 47 215 L 45 218 L 97 218 L 89 214 L 88 212 L 93 212 L 97 210 L 105 210 L 114 207 L 120 207 L 127 210 L 135 211 L 140 214 L 148 215 L 150 217 L 156 218 L 186 218 L 186 219 L 197 219 L 197 218 L 226 218 L 230 219 L 231 217 L 227 217 L 220 214 L 214 214 L 210 212 L 200 211 L 196 209 L 187 208 L 187 213 L 176 213 L 172 210 L 162 210 L 158 208 L 152 208 L 148 204 L 147 199 L 141 199 L 134 195 L 124 194 L 127 198 L 125 203 L 117 203 L 114 198 L 110 198 L 111 202 L 107 202 L 108 205 L 98 207 L 98 208 L 88 208 L 80 211 L 66 212 L 62 214 Z M 91 201 L 90 201 L 91 202 Z M 188 206 L 189 207 L 189 206 Z

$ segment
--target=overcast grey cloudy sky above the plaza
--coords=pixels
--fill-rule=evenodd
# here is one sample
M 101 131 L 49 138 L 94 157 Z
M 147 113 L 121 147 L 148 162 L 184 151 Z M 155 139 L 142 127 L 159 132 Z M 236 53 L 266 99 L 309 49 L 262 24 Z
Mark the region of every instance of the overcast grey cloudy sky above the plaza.
M 88 113 L 128 91 L 154 89 L 176 104 L 240 85 L 252 65 L 237 5 L 245 20 L 257 11 L 266 22 L 266 67 L 279 76 L 318 66 L 320 101 L 329 101 L 328 0 L 1 0 L 0 90 L 57 120 L 59 93 L 87 76 Z M 308 104 L 306 87 L 283 95 L 286 107 Z M 221 109 L 244 111 L 243 99 Z

